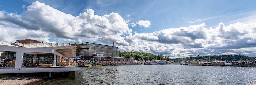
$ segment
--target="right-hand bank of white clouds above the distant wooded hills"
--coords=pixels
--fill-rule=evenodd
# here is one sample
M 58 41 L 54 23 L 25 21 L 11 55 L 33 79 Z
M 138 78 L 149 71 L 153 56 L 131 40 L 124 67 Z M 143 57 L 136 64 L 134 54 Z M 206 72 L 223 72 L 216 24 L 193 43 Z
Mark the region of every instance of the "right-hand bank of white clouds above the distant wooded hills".
M 124 50 L 145 51 L 167 56 L 196 56 L 212 54 L 252 54 L 256 52 L 256 23 L 223 23 L 215 28 L 205 28 L 205 24 L 189 27 L 163 29 L 153 33 L 135 33 L 125 37 L 132 43 Z M 143 45 L 143 46 L 142 46 Z M 150 49 L 144 47 L 148 46 Z

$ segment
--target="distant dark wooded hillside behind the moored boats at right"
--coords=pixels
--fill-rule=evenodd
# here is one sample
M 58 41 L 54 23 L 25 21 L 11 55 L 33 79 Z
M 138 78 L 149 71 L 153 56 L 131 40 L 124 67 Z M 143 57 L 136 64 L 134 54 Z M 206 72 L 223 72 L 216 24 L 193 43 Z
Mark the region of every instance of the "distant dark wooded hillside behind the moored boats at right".
M 254 61 L 254 57 L 244 56 L 244 55 L 212 55 L 210 56 L 210 60 L 214 61 L 216 60 L 222 60 L 223 61 Z M 176 58 L 172 59 L 172 61 L 189 61 L 189 60 L 205 60 L 209 61 L 209 56 L 197 56 L 197 57 L 186 57 L 186 58 Z

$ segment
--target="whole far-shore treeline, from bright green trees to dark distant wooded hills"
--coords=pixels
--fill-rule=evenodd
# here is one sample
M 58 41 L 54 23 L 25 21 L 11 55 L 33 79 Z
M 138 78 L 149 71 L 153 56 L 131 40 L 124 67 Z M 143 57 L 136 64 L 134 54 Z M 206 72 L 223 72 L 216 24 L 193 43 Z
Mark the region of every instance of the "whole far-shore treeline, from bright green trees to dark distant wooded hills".
M 145 52 L 138 52 L 138 51 L 131 51 L 131 52 L 121 52 L 119 51 L 120 57 L 126 58 L 133 58 L 135 61 L 148 61 L 148 60 L 167 60 L 167 61 L 193 61 L 193 60 L 201 60 L 201 61 L 215 61 L 215 60 L 222 60 L 223 61 L 254 61 L 254 57 L 249 57 L 245 55 L 211 55 L 211 56 L 195 56 L 195 57 L 184 57 L 184 58 L 175 58 L 170 59 L 169 56 L 163 56 L 163 54 L 155 55 L 152 53 L 145 53 Z

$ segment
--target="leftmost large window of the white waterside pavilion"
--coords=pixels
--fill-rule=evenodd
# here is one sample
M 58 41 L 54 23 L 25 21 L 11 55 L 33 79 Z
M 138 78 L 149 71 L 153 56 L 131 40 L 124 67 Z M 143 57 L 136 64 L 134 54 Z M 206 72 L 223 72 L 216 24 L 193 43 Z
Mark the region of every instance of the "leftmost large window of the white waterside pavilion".
M 0 68 L 14 68 L 16 52 L 0 52 Z

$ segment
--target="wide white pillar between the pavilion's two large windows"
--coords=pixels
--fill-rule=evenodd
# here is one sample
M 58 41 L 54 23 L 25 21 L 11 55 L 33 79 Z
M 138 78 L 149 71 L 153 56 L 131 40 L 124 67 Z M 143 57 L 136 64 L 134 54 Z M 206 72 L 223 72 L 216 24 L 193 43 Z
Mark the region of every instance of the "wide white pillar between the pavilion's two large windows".
M 15 58 L 15 69 L 20 69 L 22 66 L 22 59 L 23 59 L 23 52 L 17 51 L 16 58 Z

